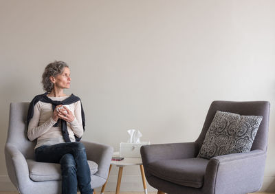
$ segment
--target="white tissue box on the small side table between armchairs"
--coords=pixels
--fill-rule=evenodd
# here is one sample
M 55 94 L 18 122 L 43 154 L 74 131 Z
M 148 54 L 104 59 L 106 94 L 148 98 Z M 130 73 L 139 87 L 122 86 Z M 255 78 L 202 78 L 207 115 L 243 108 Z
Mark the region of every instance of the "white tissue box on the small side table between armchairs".
M 135 143 L 120 143 L 120 157 L 123 158 L 141 158 L 140 147 L 148 145 L 150 142 Z

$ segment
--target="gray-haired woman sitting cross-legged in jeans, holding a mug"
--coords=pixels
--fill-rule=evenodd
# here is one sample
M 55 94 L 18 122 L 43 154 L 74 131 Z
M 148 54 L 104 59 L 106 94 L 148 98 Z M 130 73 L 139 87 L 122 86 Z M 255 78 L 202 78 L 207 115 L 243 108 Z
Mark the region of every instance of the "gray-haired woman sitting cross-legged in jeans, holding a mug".
M 55 61 L 45 67 L 42 76 L 45 94 L 34 97 L 28 111 L 28 138 L 37 139 L 38 162 L 61 164 L 62 193 L 94 192 L 85 147 L 78 142 L 83 136 L 85 116 L 80 98 L 67 96 L 70 87 L 69 66 Z

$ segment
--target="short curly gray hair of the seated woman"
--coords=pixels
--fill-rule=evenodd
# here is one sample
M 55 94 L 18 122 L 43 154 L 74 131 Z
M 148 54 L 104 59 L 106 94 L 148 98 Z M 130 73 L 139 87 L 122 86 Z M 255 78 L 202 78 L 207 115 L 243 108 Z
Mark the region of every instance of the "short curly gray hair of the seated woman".
M 47 65 L 47 67 L 45 67 L 41 81 L 44 91 L 47 91 L 47 93 L 50 93 L 52 91 L 52 89 L 54 88 L 54 83 L 52 83 L 52 81 L 50 80 L 50 76 L 55 77 L 59 74 L 62 74 L 65 67 L 69 68 L 67 63 L 63 61 L 54 61 L 53 63 L 50 63 L 49 65 Z

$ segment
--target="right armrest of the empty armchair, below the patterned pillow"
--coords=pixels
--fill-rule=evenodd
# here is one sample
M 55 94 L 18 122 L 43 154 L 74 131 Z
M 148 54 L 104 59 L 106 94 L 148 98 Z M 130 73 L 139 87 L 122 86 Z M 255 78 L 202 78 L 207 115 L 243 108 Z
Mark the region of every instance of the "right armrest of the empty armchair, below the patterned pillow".
M 266 153 L 259 149 L 211 158 L 206 167 L 205 185 L 212 185 L 214 193 L 259 191 L 263 183 L 265 158 Z

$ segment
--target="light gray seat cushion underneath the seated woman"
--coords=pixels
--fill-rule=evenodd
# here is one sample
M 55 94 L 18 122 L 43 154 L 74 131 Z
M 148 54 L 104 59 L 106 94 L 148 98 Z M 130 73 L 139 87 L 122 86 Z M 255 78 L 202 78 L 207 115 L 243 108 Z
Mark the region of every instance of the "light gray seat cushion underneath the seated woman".
M 35 160 L 27 160 L 30 178 L 33 181 L 61 180 L 61 166 L 56 163 L 36 162 Z M 91 175 L 98 171 L 98 164 L 88 160 Z

